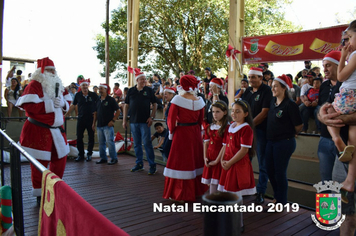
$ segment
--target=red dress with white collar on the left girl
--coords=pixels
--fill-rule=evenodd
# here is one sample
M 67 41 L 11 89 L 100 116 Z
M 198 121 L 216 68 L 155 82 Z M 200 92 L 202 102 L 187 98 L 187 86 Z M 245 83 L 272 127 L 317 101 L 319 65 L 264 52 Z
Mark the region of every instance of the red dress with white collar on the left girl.
M 208 127 L 205 130 L 204 142 L 209 142 L 208 149 L 206 151 L 206 157 L 209 161 L 214 161 L 222 148 L 224 136 L 220 137 L 219 129 L 220 125 L 211 124 L 210 131 L 208 132 Z M 228 131 L 229 125 L 226 126 L 224 134 Z M 221 165 L 220 163 L 215 166 L 206 167 L 204 165 L 203 177 L 201 182 L 203 184 L 219 184 L 220 174 L 221 174 Z

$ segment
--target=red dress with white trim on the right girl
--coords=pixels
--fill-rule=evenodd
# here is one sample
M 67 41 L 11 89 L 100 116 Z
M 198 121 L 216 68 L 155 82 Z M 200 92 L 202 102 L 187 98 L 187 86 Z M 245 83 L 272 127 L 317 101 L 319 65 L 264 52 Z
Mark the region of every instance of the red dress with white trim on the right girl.
M 248 123 L 232 127 L 225 133 L 224 160 L 230 160 L 241 147 L 252 147 L 253 130 Z M 230 169 L 222 170 L 218 185 L 219 191 L 234 192 L 239 195 L 252 195 L 256 193 L 255 179 L 248 153 Z

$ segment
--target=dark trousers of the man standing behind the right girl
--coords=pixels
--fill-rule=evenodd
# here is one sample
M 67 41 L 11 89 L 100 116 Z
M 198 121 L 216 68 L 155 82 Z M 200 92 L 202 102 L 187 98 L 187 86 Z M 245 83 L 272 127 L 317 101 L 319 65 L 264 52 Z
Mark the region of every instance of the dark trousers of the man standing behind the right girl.
M 267 189 L 268 182 L 268 174 L 266 167 L 266 131 L 261 129 L 256 129 L 256 146 L 257 146 L 257 160 L 258 160 L 258 168 L 259 168 L 259 177 L 257 184 L 257 192 L 265 194 Z

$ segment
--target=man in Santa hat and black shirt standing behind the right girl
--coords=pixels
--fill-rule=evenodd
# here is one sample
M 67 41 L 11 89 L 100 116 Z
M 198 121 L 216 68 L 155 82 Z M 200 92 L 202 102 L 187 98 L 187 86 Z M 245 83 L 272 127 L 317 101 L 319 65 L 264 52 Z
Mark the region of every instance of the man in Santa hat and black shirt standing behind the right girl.
M 242 99 L 251 106 L 253 123 L 255 125 L 257 141 L 257 158 L 259 166 L 259 178 L 257 184 L 256 203 L 264 202 L 264 194 L 267 189 L 268 175 L 265 160 L 267 144 L 267 114 L 272 100 L 271 88 L 262 83 L 263 73 L 261 68 L 252 67 L 248 73 L 250 86 L 242 95 Z

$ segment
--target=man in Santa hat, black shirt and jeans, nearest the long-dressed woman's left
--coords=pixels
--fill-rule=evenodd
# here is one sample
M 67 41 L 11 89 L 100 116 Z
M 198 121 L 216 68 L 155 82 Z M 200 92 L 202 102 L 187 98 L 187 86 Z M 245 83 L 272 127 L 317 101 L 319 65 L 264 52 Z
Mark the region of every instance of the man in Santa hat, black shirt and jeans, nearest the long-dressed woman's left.
M 151 88 L 145 86 L 146 75 L 139 69 L 128 68 L 134 73 L 137 84 L 130 88 L 125 98 L 124 115 L 122 126 L 127 128 L 127 116 L 130 116 L 130 129 L 134 139 L 136 165 L 131 172 L 143 170 L 142 142 L 145 146 L 147 160 L 150 165 L 149 175 L 156 173 L 155 155 L 151 142 L 151 125 L 156 115 L 157 100 Z M 152 104 L 152 112 L 150 110 Z

